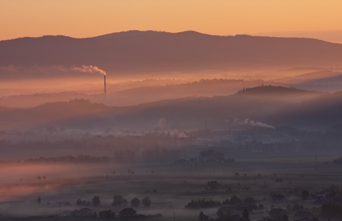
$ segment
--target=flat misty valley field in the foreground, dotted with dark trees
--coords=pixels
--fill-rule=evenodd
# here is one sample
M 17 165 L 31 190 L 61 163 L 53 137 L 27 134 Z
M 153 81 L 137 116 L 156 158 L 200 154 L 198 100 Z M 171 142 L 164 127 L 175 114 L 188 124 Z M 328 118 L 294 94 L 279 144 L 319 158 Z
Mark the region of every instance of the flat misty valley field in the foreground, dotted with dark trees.
M 289 159 L 287 158 L 286 162 Z M 124 207 L 111 206 L 113 195 L 123 195 L 128 200 L 126 207 L 130 207 L 133 197 L 141 200 L 149 196 L 152 205 L 136 207 L 135 210 L 145 215 L 161 213 L 162 217 L 158 220 L 173 220 L 174 212 L 176 220 L 197 220 L 200 211 L 216 218 L 217 207 L 190 210 L 185 209 L 185 205 L 198 199 L 222 201 L 232 195 L 240 198 L 251 196 L 257 200 L 257 204 L 264 205 L 263 210 L 251 214 L 252 220 L 266 216 L 271 207 L 286 208 L 286 205 L 294 202 L 299 202 L 319 216 L 319 205 L 301 201 L 301 191 L 318 192 L 330 185 L 341 187 L 341 168 L 321 161 L 317 164 L 306 163 L 307 160 L 308 157 L 296 157 L 293 163 L 283 163 L 278 159 L 276 161 L 280 163 L 272 163 L 271 160 L 261 158 L 246 158 L 231 165 L 205 166 L 64 165 L 51 168 L 40 165 L 40 173 L 46 173 L 46 180 L 37 180 L 33 173 L 22 180 L 21 177 L 2 180 L 1 216 L 9 218 L 56 215 L 63 210 L 80 209 L 76 200 L 81 198 L 91 202 L 94 195 L 100 197 L 101 205 L 88 207 L 96 212 L 122 210 Z M 29 171 L 30 167 L 33 166 L 26 166 L 21 170 Z M 48 170 L 44 171 L 44 167 Z M 34 171 L 39 170 L 35 168 Z M 217 180 L 219 183 L 213 192 L 204 191 L 209 180 Z M 275 192 L 285 195 L 286 200 L 272 202 L 271 193 Z M 38 197 L 41 197 L 40 205 L 36 203 Z M 291 214 L 293 215 L 293 211 L 289 213 L 289 220 L 292 220 Z

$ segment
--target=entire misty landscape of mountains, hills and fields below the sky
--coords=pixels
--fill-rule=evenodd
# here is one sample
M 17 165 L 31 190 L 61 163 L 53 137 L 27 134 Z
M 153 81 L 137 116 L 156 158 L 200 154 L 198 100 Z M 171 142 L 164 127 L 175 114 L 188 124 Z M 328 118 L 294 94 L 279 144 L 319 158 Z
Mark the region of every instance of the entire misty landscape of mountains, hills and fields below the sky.
M 0 41 L 1 219 L 338 220 L 341 58 L 195 31 Z

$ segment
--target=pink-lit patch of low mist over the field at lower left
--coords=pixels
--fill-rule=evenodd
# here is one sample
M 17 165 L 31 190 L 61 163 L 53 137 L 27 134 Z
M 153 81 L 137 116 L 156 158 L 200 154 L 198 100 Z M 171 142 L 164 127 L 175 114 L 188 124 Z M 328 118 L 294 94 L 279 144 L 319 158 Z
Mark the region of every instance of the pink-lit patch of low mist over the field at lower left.
M 114 165 L 1 164 L 1 202 L 71 189 L 86 182 L 86 178 L 105 177 L 113 171 L 115 171 Z

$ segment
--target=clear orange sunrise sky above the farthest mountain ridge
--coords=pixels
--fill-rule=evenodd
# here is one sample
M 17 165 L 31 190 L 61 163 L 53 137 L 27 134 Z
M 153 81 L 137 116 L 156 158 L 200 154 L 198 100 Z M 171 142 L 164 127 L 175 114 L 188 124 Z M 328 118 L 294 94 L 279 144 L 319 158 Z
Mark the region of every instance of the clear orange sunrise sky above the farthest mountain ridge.
M 341 0 L 0 0 L 0 39 L 133 29 L 308 37 L 330 31 L 323 36 L 336 38 L 341 9 Z

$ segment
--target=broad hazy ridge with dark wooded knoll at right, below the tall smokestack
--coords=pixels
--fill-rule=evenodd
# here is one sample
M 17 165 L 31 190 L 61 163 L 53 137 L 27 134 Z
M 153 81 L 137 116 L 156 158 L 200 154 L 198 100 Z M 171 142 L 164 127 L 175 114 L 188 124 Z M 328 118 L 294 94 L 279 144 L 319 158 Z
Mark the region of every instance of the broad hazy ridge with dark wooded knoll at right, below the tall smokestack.
M 232 96 L 189 97 L 111 107 L 86 100 L 46 103 L 34 108 L 1 108 L 3 128 L 52 124 L 63 128 L 190 130 L 239 127 L 245 119 L 272 125 L 326 129 L 342 123 L 341 93 L 318 93 L 281 86 L 245 88 Z M 14 125 L 14 122 L 16 122 Z

